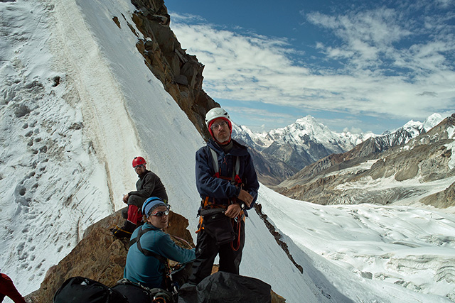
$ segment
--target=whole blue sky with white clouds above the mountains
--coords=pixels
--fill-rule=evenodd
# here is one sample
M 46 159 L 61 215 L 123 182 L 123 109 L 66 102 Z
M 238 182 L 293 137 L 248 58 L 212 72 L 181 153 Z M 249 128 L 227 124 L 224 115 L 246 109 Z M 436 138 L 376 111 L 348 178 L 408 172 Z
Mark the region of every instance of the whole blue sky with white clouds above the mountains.
M 455 112 L 455 0 L 168 0 L 203 89 L 252 131 L 382 133 Z

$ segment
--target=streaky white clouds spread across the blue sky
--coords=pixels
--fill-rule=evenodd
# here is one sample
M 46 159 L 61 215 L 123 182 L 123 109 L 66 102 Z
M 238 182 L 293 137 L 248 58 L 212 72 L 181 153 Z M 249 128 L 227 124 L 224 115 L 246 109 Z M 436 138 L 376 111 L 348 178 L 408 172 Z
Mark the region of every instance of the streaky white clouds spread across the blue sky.
M 171 28 L 182 47 L 205 65 L 204 89 L 214 99 L 403 119 L 424 119 L 455 108 L 449 55 L 455 44 L 434 31 L 446 32 L 446 23 L 426 18 L 433 34 L 419 36 L 413 44 L 411 38 L 427 29 L 416 28 L 405 12 L 380 8 L 306 17 L 340 39 L 335 45 L 319 41 L 314 46 L 324 62 L 341 60 L 341 69 L 296 63 L 298 52 L 284 38 L 234 33 L 206 23 L 177 22 Z M 408 46 L 398 47 L 402 42 Z

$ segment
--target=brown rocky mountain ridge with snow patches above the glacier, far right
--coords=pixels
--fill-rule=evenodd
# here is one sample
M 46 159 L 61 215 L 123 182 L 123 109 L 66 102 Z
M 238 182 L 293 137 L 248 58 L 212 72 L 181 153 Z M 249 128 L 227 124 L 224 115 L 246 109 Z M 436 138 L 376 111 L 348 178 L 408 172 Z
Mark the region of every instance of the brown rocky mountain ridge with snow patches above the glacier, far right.
M 455 114 L 404 145 L 380 150 L 373 138 L 329 155 L 279 184 L 277 191 L 317 204 L 391 204 L 412 198 L 455 205 Z

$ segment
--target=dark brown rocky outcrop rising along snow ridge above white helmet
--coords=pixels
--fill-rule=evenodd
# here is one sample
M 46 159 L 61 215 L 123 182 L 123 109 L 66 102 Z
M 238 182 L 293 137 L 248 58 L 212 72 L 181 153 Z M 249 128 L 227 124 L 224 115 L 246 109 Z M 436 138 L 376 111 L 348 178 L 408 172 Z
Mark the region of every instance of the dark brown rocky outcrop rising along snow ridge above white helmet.
M 129 28 L 137 35 L 136 47 L 144 56 L 144 64 L 158 78 L 178 106 L 186 113 L 188 119 L 198 131 L 209 138 L 205 126 L 205 113 L 213 107 L 220 106 L 202 89 L 204 65 L 198 62 L 195 55 L 188 55 L 181 48 L 176 35 L 169 27 L 171 17 L 164 5 L 164 0 L 132 0 L 136 7 L 133 13 L 134 26 Z M 119 16 L 112 21 L 119 26 Z

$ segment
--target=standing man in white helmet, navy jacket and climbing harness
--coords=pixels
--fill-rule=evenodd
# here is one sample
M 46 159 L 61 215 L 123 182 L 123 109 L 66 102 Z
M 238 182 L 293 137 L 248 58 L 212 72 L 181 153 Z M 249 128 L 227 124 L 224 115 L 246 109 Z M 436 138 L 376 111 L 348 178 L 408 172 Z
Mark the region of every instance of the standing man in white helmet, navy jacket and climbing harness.
M 196 152 L 196 185 L 202 199 L 196 260 L 188 282 L 210 275 L 219 255 L 220 271 L 239 274 L 245 244 L 246 210 L 257 199 L 259 182 L 247 147 L 231 138 L 232 123 L 222 108 L 205 116 L 212 138 Z

